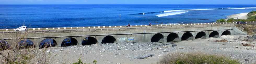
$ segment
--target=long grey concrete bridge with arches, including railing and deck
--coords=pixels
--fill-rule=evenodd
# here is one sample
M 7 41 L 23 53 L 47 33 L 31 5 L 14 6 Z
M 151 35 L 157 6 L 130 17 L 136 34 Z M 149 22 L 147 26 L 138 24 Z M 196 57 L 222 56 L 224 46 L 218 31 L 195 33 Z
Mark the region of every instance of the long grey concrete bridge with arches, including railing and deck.
M 195 40 L 221 37 L 222 35 L 246 35 L 235 26 L 256 25 L 255 23 L 205 23 L 181 25 L 154 25 L 136 27 L 113 28 L 78 28 L 78 29 L 52 29 L 29 31 L 1 31 L 0 38 L 8 43 L 25 35 L 36 47 L 44 44 L 44 40 L 52 40 L 53 46 L 90 45 L 104 43 L 149 43 L 149 42 L 181 42 L 182 40 Z M 19 38 L 19 37 L 18 37 Z M 69 39 L 68 41 L 66 39 Z

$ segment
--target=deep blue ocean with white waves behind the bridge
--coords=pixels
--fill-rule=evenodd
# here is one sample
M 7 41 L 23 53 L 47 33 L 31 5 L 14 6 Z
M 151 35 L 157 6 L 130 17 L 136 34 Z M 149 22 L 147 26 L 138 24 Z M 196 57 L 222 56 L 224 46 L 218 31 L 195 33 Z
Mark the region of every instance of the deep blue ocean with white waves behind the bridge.
M 0 5 L 0 28 L 209 23 L 256 10 L 255 7 L 228 4 Z

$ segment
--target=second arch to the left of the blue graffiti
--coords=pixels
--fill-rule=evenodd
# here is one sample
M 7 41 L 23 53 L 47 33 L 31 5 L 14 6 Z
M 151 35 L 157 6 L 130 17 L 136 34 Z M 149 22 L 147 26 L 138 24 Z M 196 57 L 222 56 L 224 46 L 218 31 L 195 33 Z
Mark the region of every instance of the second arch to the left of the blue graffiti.
M 97 39 L 94 37 L 86 37 L 82 41 L 82 45 L 92 45 L 98 43 Z

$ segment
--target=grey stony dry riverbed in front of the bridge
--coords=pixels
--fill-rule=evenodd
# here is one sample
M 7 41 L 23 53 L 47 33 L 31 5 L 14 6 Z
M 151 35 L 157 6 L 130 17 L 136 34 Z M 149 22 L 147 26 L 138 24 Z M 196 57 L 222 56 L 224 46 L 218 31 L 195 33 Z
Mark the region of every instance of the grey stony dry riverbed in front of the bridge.
M 225 40 L 224 40 L 225 39 Z M 214 42 L 222 40 L 222 42 Z M 163 55 L 172 53 L 200 52 L 213 55 L 225 55 L 240 63 L 250 64 L 256 61 L 255 39 L 244 36 L 222 36 L 182 41 L 178 43 L 110 43 L 87 46 L 52 47 L 54 64 L 73 63 L 80 57 L 83 62 L 97 64 L 155 64 Z M 177 46 L 172 46 L 177 44 Z M 245 46 L 244 46 L 245 45 Z M 144 57 L 149 56 L 149 57 Z M 134 58 L 145 59 L 134 59 Z

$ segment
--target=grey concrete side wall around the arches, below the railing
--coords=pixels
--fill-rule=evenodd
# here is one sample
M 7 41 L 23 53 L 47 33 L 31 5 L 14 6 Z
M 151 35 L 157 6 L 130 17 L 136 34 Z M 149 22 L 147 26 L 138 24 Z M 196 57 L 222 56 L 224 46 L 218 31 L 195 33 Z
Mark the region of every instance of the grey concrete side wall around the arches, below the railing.
M 196 35 L 201 32 L 203 39 L 207 39 L 212 32 L 217 32 L 214 37 L 221 37 L 224 31 L 229 31 L 230 35 L 246 35 L 236 27 L 202 27 L 202 28 L 179 28 L 179 29 L 159 29 L 159 30 L 133 30 L 133 31 L 102 31 L 102 32 L 71 32 L 71 33 L 43 33 L 43 34 L 27 34 L 25 37 L 39 46 L 42 40 L 46 38 L 54 39 L 57 46 L 61 46 L 62 41 L 66 38 L 74 38 L 77 40 L 77 45 L 82 45 L 82 41 L 86 37 L 97 39 L 96 44 L 102 44 L 102 40 L 106 36 L 113 36 L 114 43 L 139 42 L 149 43 L 152 40 L 158 42 L 167 42 L 172 39 L 174 42 L 183 40 L 195 40 Z M 177 38 L 174 35 L 177 34 Z M 169 35 L 169 36 L 168 36 Z M 10 38 L 17 35 L 1 35 L 0 38 Z

